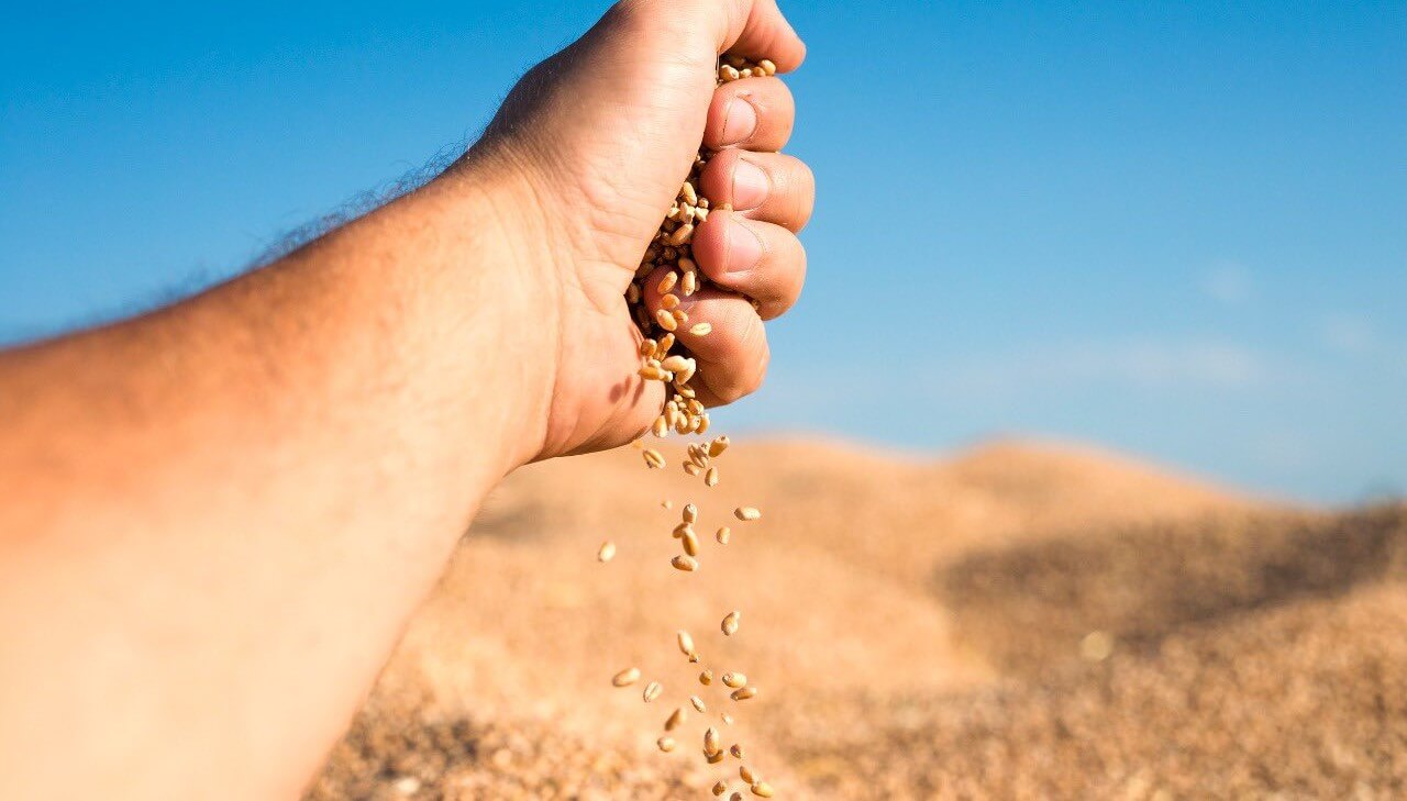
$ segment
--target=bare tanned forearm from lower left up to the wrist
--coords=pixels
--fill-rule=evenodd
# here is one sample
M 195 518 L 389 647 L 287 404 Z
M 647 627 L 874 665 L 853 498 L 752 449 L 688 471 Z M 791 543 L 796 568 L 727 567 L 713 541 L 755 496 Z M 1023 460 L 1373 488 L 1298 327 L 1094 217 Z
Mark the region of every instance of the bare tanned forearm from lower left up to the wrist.
M 186 304 L 0 356 L 0 790 L 297 790 L 540 443 L 552 371 L 512 275 L 540 232 L 505 187 L 457 173 Z

